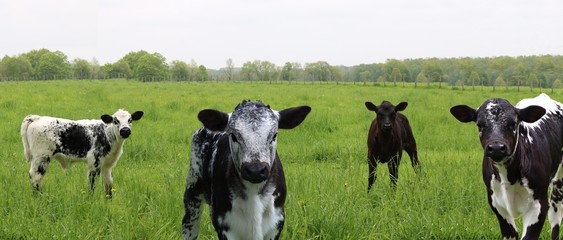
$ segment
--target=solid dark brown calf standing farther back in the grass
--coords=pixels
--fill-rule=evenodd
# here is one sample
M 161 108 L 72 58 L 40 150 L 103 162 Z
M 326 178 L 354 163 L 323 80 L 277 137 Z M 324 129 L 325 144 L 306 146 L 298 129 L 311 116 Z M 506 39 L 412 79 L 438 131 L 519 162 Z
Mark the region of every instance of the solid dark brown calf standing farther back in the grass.
M 377 163 L 388 163 L 391 187 L 396 189 L 399 178 L 399 164 L 403 156 L 403 150 L 409 154 L 411 163 L 416 173 L 420 172 L 416 141 L 412 134 L 409 120 L 399 111 L 407 108 L 407 102 L 401 102 L 393 106 L 388 101 L 375 106 L 366 102 L 366 107 L 376 113 L 376 118 L 371 122 L 368 132 L 368 192 L 377 177 Z

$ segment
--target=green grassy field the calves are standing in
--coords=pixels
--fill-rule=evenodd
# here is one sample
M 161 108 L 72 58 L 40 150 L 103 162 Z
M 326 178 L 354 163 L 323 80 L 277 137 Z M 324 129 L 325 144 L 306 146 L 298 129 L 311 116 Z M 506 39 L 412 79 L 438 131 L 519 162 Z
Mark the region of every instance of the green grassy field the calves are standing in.
M 449 108 L 490 97 L 512 103 L 536 96 L 485 88 L 452 90 L 311 83 L 140 83 L 126 80 L 0 82 L 0 239 L 179 239 L 191 134 L 205 108 L 230 112 L 243 99 L 282 110 L 309 105 L 299 127 L 280 130 L 278 152 L 288 185 L 282 239 L 500 239 L 481 179 L 474 124 Z M 563 100 L 563 93 L 549 93 Z M 367 193 L 365 101 L 409 102 L 423 174 L 404 155 L 397 192 L 387 167 Z M 114 168 L 115 193 L 98 181 L 87 194 L 86 165 L 52 162 L 43 194 L 32 195 L 19 136 L 27 114 L 98 118 L 118 108 L 143 110 Z M 519 227 L 521 224 L 519 224 Z M 542 238 L 549 237 L 544 226 Z M 200 239 L 216 239 L 208 209 Z

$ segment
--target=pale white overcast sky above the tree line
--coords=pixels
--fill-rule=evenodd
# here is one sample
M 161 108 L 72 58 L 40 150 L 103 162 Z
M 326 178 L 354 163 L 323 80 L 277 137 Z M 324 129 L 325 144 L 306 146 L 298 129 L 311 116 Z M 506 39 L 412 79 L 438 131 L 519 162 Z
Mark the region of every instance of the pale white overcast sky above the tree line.
M 563 55 L 561 0 L 0 0 L 0 57 L 131 51 L 218 69 L 267 60 Z

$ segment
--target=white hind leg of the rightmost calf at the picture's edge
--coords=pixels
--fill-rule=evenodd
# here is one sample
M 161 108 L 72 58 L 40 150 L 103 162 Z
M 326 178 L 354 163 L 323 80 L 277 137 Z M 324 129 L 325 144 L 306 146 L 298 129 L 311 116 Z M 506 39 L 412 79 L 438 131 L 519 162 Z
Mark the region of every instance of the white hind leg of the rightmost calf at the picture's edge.
M 561 170 L 561 165 L 553 178 L 549 206 L 547 216 L 551 225 L 551 238 L 559 239 L 559 229 L 563 218 L 563 170 Z

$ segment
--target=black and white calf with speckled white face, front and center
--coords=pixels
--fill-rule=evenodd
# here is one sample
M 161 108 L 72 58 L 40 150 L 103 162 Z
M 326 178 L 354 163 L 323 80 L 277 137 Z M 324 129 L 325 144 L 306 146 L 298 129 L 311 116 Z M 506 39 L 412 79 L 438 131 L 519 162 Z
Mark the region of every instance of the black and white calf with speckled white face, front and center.
M 278 129 L 298 126 L 310 111 L 243 101 L 232 113 L 199 112 L 204 127 L 192 136 L 182 238 L 197 238 L 204 201 L 219 239 L 278 239 L 286 196 Z

